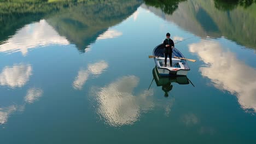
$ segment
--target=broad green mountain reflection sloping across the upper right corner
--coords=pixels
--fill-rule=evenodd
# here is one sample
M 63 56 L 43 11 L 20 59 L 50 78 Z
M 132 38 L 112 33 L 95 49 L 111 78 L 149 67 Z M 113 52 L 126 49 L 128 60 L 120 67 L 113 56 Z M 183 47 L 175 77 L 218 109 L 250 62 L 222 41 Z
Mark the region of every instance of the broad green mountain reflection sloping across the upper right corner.
M 158 7 L 165 3 L 154 2 L 158 4 L 146 3 L 147 5 L 142 5 L 142 8 L 202 38 L 224 36 L 238 44 L 256 49 L 255 1 L 179 1 L 177 9 L 172 14 Z M 236 6 L 232 10 L 218 9 L 218 7 L 225 7 L 225 4 L 229 5 L 230 2 Z

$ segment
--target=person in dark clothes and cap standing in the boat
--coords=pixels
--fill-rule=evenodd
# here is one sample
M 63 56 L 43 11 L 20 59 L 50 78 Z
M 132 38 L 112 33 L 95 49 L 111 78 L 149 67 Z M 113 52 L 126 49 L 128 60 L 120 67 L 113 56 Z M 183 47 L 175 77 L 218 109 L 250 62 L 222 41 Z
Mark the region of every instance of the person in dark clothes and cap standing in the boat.
M 172 67 L 172 49 L 174 47 L 173 40 L 170 39 L 171 34 L 166 33 L 166 39 L 164 40 L 164 47 L 165 47 L 165 67 L 167 67 L 167 57 L 169 56 L 170 65 Z

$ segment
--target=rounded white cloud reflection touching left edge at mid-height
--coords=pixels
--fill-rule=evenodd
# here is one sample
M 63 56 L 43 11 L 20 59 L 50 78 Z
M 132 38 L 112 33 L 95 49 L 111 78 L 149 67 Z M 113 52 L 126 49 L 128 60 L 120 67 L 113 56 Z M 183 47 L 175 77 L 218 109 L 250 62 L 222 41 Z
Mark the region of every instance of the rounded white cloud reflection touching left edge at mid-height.
M 32 67 L 29 64 L 14 64 L 13 67 L 4 67 L 0 73 L 0 85 L 11 88 L 22 87 L 30 79 Z

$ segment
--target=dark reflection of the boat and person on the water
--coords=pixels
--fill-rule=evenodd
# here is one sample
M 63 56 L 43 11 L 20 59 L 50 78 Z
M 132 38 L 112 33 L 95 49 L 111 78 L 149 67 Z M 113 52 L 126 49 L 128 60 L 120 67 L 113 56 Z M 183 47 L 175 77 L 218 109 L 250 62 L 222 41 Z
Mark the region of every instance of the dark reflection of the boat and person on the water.
M 168 92 L 172 90 L 172 83 L 176 82 L 179 85 L 188 85 L 190 80 L 187 76 L 161 76 L 156 68 L 152 71 L 156 86 L 162 86 L 162 91 L 165 92 L 165 97 L 168 97 Z M 193 83 L 191 83 L 193 85 Z M 194 85 L 193 85 L 194 86 Z

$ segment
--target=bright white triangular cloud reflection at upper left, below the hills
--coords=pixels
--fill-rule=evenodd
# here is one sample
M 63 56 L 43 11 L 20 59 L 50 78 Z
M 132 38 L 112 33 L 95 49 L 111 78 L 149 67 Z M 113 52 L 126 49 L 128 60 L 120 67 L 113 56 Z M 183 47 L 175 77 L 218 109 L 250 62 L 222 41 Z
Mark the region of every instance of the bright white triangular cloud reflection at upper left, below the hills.
M 13 37 L 0 45 L 0 52 L 20 51 L 22 55 L 26 56 L 28 49 L 49 44 L 68 45 L 69 42 L 65 37 L 61 37 L 45 20 L 40 20 L 17 31 Z

